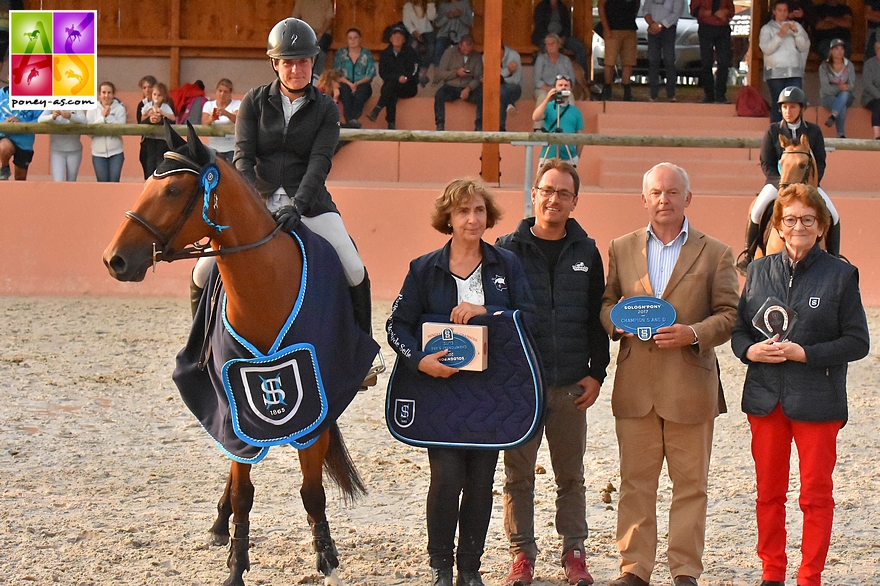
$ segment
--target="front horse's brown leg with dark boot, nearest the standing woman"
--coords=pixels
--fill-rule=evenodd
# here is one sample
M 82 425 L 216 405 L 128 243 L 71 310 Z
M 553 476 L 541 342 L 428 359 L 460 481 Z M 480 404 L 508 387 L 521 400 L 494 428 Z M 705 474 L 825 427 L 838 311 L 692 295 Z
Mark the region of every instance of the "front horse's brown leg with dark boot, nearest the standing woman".
M 324 574 L 325 586 L 339 586 L 339 552 L 330 536 L 330 524 L 327 523 L 327 497 L 324 493 L 323 466 L 324 456 L 330 445 L 329 432 L 324 432 L 318 440 L 299 451 L 299 463 L 303 474 L 303 485 L 300 488 L 303 507 L 312 530 L 312 548 L 315 550 L 315 566 Z

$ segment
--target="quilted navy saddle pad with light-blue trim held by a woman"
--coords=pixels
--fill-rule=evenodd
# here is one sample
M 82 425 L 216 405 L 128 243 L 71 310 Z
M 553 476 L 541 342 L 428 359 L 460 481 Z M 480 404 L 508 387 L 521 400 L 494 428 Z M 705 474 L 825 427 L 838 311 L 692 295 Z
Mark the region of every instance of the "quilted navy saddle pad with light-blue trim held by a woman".
M 423 321 L 449 319 L 425 316 Z M 395 363 L 385 420 L 398 440 L 419 447 L 504 450 L 529 441 L 541 429 L 541 366 L 522 312 L 481 315 L 468 324 L 488 326 L 486 370 L 434 378 L 399 359 Z

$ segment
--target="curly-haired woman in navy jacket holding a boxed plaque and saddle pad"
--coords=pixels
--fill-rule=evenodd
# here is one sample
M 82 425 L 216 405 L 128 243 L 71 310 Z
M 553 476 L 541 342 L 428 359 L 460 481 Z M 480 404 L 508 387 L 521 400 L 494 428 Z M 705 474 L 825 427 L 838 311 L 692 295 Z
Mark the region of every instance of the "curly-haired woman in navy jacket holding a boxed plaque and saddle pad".
M 446 186 L 434 202 L 432 225 L 452 239 L 410 263 L 386 324 L 388 343 L 406 368 L 447 378 L 457 368 L 440 362 L 448 351 L 426 354 L 417 332 L 422 316 L 448 315 L 466 324 L 477 315 L 504 309 L 532 313 L 528 281 L 516 256 L 483 241 L 500 217 L 489 191 L 471 179 Z M 480 558 L 492 516 L 492 482 L 498 450 L 428 448 L 428 554 L 434 586 L 452 586 L 458 525 L 458 586 L 482 586 Z M 459 502 L 459 496 L 461 501 Z

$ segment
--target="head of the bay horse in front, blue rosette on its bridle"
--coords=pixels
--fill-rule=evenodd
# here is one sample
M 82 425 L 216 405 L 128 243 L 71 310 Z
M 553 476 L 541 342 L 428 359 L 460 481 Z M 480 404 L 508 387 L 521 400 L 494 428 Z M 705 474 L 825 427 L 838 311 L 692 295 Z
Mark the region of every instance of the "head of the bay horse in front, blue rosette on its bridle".
M 221 172 L 237 174 L 202 144 L 191 124 L 187 126 L 188 140 L 183 140 L 165 122 L 168 152 L 104 251 L 104 264 L 115 279 L 141 281 L 158 261 L 202 256 L 205 239 L 227 228 L 215 221 L 216 189 Z

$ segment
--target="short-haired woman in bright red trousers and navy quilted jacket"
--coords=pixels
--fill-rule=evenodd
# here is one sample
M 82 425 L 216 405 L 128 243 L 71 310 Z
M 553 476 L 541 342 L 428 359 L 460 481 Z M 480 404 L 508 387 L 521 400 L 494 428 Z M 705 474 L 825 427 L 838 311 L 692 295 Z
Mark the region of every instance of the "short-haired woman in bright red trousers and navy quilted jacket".
M 773 225 L 785 248 L 749 267 L 731 345 L 749 366 L 742 408 L 752 432 L 758 485 L 762 586 L 785 581 L 785 500 L 792 439 L 798 450 L 799 503 L 804 514 L 797 583 L 819 586 L 831 542 L 837 434 L 847 420 L 847 363 L 868 354 L 868 324 L 857 269 L 819 248 L 831 214 L 816 189 L 795 184 L 780 191 Z M 752 325 L 770 297 L 796 313 L 797 322 L 788 328 L 782 324 L 783 332 L 790 329 L 783 342 L 779 334 L 767 339 Z M 771 309 L 759 318 L 767 314 L 770 321 Z

